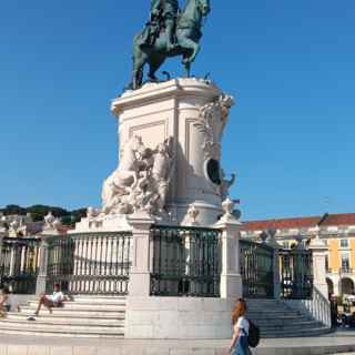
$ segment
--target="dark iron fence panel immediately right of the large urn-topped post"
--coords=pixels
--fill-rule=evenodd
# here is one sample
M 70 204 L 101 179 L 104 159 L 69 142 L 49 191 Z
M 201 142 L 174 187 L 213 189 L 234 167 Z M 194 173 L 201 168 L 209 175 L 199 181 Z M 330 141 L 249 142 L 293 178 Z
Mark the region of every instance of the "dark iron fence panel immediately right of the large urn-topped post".
M 272 298 L 274 296 L 274 250 L 248 240 L 240 241 L 243 296 Z

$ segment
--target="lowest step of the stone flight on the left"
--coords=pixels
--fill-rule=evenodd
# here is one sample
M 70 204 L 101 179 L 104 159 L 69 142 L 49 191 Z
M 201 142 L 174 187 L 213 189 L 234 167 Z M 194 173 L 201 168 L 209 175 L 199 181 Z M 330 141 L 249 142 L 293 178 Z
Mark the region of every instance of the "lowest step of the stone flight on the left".
M 2 320 L 0 322 L 0 328 L 6 327 L 7 329 L 12 329 L 12 328 L 21 328 L 22 331 L 42 331 L 44 329 L 45 332 L 70 332 L 70 333 L 85 333 L 89 332 L 95 333 L 95 334 L 121 334 L 124 333 L 124 325 L 97 325 L 97 324 L 74 324 L 74 323 L 53 323 L 53 322 L 48 322 L 43 321 L 40 318 L 36 318 L 36 321 L 14 321 L 14 320 Z

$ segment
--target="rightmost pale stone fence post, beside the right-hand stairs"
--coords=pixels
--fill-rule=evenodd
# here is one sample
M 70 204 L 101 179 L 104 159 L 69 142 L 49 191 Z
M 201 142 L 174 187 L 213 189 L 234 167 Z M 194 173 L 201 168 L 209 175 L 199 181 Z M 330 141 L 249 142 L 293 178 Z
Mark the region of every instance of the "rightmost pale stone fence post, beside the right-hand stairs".
M 322 295 L 328 300 L 328 286 L 326 284 L 325 268 L 327 246 L 320 239 L 320 230 L 316 231 L 315 237 L 312 239 L 310 250 L 312 250 L 313 284 L 318 288 Z

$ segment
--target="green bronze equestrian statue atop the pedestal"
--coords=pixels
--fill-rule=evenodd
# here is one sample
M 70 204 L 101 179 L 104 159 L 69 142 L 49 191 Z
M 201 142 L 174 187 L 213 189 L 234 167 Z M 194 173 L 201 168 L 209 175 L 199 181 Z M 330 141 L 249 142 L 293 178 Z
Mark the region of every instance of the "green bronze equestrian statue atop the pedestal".
M 143 84 L 143 68 L 149 64 L 149 81 L 166 58 L 182 55 L 186 75 L 200 51 L 203 19 L 211 11 L 210 0 L 186 0 L 182 11 L 178 0 L 151 0 L 150 19 L 133 41 L 133 72 L 130 88 Z

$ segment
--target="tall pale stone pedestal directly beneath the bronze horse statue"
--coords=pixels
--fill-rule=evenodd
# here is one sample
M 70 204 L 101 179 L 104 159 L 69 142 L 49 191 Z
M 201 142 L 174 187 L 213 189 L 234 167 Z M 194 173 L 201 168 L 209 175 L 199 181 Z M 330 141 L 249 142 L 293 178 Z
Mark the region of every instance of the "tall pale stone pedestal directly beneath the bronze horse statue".
M 172 139 L 174 171 L 166 207 L 175 223 L 187 223 L 192 203 L 200 211 L 201 225 L 214 224 L 221 214 L 227 182 L 219 165 L 220 142 L 231 105 L 230 97 L 201 79 L 149 83 L 112 102 L 119 119 L 120 155 L 133 135 L 151 149 Z

